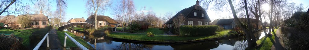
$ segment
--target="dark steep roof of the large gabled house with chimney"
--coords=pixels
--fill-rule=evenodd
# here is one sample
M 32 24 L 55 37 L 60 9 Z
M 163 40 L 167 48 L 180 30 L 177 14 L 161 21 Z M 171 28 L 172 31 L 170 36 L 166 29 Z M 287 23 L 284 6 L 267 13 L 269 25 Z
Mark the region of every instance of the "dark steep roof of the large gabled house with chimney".
M 198 1 L 197 1 L 198 2 Z M 194 12 L 193 11 L 203 11 L 204 13 L 204 17 L 194 17 L 194 16 L 189 16 L 191 14 L 193 14 Z M 188 8 L 185 8 L 181 11 L 179 11 L 176 15 L 174 15 L 170 20 L 168 20 L 165 24 L 169 24 L 169 23 L 172 23 L 172 19 L 178 17 L 178 15 L 184 15 L 184 17 L 187 19 L 187 18 L 196 18 L 196 19 L 207 19 L 209 22 L 210 19 L 209 19 L 209 16 L 208 14 L 206 13 L 206 11 L 204 10 L 203 7 L 201 7 L 200 5 L 196 4 L 196 5 L 193 5 L 193 6 L 190 6 Z

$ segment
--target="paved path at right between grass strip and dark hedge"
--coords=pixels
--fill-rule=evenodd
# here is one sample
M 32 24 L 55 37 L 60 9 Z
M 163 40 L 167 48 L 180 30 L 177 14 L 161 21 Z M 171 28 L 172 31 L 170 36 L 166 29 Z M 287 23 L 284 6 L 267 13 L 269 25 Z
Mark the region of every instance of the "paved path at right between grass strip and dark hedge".
M 280 28 L 279 28 L 280 29 Z M 275 43 L 273 44 L 271 50 L 285 50 L 284 44 L 283 44 L 283 36 L 281 34 L 281 31 L 277 29 L 275 36 Z

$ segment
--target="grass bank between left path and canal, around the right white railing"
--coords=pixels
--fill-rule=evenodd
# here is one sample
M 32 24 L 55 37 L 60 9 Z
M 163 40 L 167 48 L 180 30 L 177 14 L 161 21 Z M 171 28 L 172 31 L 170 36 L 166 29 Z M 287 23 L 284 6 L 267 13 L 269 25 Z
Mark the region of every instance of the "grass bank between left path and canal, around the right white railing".
M 89 44 L 87 44 L 87 42 L 85 40 L 83 40 L 81 37 L 78 37 L 76 35 L 73 35 L 72 33 L 68 32 L 68 31 L 57 31 L 58 34 L 58 38 L 61 42 L 61 45 L 63 46 L 64 44 L 64 37 L 65 34 L 67 33 L 68 35 L 70 35 L 72 38 L 74 38 L 78 43 L 82 44 L 83 46 L 85 46 L 88 49 L 93 49 Z M 66 39 L 66 47 L 78 47 L 76 44 L 74 44 L 74 42 L 72 40 L 70 40 L 68 37 Z

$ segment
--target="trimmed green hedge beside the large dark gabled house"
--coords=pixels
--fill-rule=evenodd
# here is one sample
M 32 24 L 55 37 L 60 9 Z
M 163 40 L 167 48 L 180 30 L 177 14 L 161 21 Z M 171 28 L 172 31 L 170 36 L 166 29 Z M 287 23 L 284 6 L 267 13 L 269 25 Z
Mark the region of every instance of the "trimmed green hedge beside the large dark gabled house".
M 219 28 L 217 25 L 207 26 L 180 26 L 180 35 L 184 36 L 206 36 L 216 34 L 216 30 Z

